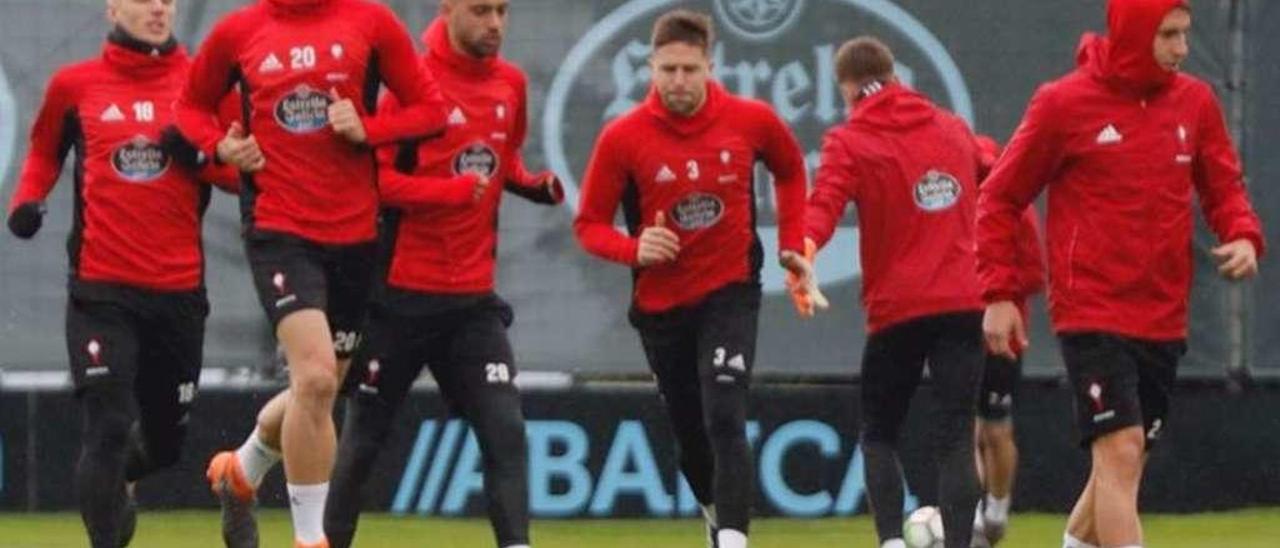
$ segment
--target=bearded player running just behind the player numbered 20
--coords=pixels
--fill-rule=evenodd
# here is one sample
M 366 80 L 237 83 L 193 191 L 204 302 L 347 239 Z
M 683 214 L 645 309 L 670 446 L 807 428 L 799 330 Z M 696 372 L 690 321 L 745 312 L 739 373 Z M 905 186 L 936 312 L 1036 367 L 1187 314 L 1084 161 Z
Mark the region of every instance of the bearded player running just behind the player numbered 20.
M 444 90 L 448 129 L 380 151 L 388 256 L 369 339 L 348 375 L 325 533 L 352 544 L 378 452 L 425 364 L 476 433 L 498 547 L 527 547 L 525 419 L 507 338 L 512 310 L 494 292 L 503 188 L 541 204 L 563 198 L 552 173 L 521 160 L 527 124 L 524 72 L 499 56 L 508 0 L 444 0 L 424 36 L 422 63 Z M 387 113 L 398 111 L 394 101 Z

